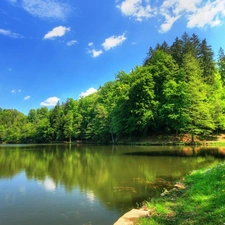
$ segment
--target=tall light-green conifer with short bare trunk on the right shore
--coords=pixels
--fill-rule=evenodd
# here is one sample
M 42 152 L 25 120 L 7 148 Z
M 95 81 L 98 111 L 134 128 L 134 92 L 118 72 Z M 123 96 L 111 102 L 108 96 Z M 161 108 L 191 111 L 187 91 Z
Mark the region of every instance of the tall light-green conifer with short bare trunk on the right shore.
M 187 101 L 184 105 L 186 125 L 184 130 L 192 135 L 211 132 L 215 124 L 210 113 L 207 91 L 209 86 L 204 83 L 202 70 L 198 60 L 192 54 L 184 55 L 184 81 L 188 84 Z

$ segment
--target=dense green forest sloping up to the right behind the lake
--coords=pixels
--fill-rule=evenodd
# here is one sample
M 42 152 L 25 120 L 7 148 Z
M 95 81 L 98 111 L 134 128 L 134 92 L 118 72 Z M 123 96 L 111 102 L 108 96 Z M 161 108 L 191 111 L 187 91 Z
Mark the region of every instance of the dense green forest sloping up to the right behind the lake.
M 216 58 L 216 59 L 215 59 Z M 225 54 L 184 33 L 150 47 L 143 65 L 78 100 L 28 115 L 0 109 L 0 142 L 116 142 L 156 133 L 192 136 L 225 130 Z

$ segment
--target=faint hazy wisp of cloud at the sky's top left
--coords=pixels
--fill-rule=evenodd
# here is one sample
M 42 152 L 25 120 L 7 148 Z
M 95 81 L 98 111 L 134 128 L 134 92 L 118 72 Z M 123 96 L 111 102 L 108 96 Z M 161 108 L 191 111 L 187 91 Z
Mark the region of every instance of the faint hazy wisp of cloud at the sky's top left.
M 15 0 L 11 1 L 15 2 Z M 41 19 L 65 20 L 71 9 L 68 4 L 61 2 L 58 0 L 21 0 L 20 6 L 32 16 Z

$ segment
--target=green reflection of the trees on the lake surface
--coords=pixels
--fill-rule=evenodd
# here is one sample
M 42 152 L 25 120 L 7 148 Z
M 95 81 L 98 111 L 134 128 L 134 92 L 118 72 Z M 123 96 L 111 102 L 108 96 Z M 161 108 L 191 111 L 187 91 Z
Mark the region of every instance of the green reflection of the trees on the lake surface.
M 117 146 L 112 150 L 111 146 L 79 145 L 2 148 L 0 177 L 11 178 L 25 171 L 28 179 L 44 183 L 48 178 L 56 187 L 62 185 L 67 191 L 78 187 L 82 192 L 92 193 L 92 198 L 97 196 L 112 207 L 124 202 L 135 204 L 140 199 L 146 199 L 146 196 L 158 194 L 163 187 L 170 187 L 172 180 L 215 161 L 214 157 L 168 157 L 169 154 L 163 151 L 158 151 L 160 157 L 151 157 L 148 151 L 145 153 L 149 157 L 146 154 L 135 155 L 146 149 Z M 191 147 L 179 151 L 183 156 L 201 153 L 201 149 Z M 210 151 L 218 152 L 218 149 Z M 157 151 L 151 153 L 154 152 Z

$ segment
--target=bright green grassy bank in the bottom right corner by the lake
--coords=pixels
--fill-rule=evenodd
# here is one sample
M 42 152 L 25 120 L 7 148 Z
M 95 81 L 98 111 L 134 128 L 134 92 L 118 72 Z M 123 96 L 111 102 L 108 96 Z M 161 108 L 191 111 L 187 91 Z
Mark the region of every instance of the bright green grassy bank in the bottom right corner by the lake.
M 136 225 L 225 224 L 225 164 L 194 171 L 176 186 L 146 202 L 150 217 Z

